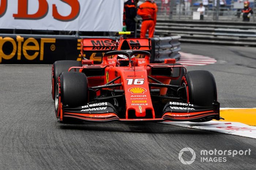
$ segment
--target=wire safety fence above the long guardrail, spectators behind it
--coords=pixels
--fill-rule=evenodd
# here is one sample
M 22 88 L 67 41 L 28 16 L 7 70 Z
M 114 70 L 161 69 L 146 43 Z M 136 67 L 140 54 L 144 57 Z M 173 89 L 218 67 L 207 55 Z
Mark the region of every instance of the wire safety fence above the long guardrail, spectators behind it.
M 158 19 L 192 20 L 193 12 L 197 11 L 201 0 L 155 0 L 158 5 Z M 219 1 L 224 1 L 222 4 Z M 256 22 L 256 0 L 249 0 L 254 11 L 251 22 Z M 220 4 L 218 4 L 219 2 Z M 241 10 L 244 1 L 240 0 L 208 0 L 204 5 L 204 20 L 242 21 Z

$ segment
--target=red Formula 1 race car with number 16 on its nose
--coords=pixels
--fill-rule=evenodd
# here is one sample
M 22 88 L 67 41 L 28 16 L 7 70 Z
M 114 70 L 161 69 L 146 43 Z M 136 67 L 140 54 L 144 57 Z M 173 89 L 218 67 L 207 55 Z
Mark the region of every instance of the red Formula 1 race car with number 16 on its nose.
M 120 34 L 124 37 L 119 40 L 82 39 L 82 62 L 53 64 L 52 96 L 60 122 L 74 118 L 98 122 L 220 119 L 210 72 L 187 72 L 175 59 L 150 63 L 150 39 Z

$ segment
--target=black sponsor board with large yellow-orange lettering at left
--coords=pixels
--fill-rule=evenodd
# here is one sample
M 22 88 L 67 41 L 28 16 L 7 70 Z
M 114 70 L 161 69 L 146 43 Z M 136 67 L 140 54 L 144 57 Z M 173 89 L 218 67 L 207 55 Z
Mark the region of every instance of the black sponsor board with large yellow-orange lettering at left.
M 53 64 L 77 60 L 79 37 L 47 35 L 0 35 L 1 64 Z

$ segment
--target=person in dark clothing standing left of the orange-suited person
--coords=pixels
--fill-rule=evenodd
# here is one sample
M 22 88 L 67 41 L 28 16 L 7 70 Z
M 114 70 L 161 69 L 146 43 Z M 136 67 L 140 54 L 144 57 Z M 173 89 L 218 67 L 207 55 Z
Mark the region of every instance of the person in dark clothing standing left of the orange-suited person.
M 136 3 L 138 3 L 138 0 L 128 0 L 124 3 L 126 31 L 135 32 L 136 22 L 134 18 L 137 15 Z M 129 37 L 134 37 L 134 35 L 129 35 Z

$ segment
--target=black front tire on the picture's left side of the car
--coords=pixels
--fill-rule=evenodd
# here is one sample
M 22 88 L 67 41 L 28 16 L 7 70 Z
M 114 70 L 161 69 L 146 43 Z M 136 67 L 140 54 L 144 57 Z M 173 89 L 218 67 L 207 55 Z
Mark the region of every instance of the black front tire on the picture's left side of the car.
M 60 104 L 68 107 L 79 107 L 88 101 L 88 79 L 80 72 L 62 72 L 56 83 L 55 113 L 60 117 Z M 63 119 L 64 121 L 64 119 Z

